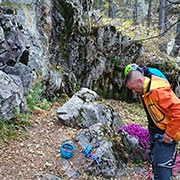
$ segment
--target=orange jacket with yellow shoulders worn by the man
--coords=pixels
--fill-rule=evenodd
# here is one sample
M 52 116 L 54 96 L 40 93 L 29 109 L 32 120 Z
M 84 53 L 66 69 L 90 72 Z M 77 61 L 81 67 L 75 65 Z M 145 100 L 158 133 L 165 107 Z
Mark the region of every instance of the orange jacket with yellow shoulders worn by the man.
M 155 125 L 174 140 L 180 141 L 180 99 L 168 81 L 151 77 L 149 91 L 142 98 Z

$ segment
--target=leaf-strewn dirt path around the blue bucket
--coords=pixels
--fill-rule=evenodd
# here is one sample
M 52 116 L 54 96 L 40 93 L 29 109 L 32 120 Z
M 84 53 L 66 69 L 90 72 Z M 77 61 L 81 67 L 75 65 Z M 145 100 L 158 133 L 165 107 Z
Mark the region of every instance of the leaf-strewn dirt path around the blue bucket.
M 59 147 L 64 141 L 75 144 L 75 153 L 70 160 L 67 160 L 67 165 L 80 169 L 82 175 L 79 179 L 103 179 L 88 177 L 83 172 L 87 158 L 83 156 L 83 150 L 75 143 L 77 130 L 59 124 L 56 117 L 57 108 L 58 106 L 53 106 L 48 111 L 35 111 L 31 116 L 34 124 L 28 127 L 23 137 L 1 144 L 1 180 L 40 180 L 43 174 L 52 174 L 63 180 L 70 179 L 63 176 L 65 161 L 59 153 Z M 128 171 L 129 175 L 121 178 L 122 180 L 135 177 L 134 167 L 128 167 Z M 138 180 L 138 177 L 133 179 Z

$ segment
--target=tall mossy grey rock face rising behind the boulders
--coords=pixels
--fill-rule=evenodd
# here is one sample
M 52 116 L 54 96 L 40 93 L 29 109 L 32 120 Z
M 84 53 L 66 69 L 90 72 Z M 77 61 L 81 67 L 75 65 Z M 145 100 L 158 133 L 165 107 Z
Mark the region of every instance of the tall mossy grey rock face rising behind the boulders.
M 0 70 L 19 76 L 24 96 L 38 79 L 48 98 L 87 87 L 126 100 L 123 68 L 142 55 L 142 44 L 102 26 L 92 5 L 92 0 L 0 1 Z M 173 84 L 179 92 L 179 83 Z

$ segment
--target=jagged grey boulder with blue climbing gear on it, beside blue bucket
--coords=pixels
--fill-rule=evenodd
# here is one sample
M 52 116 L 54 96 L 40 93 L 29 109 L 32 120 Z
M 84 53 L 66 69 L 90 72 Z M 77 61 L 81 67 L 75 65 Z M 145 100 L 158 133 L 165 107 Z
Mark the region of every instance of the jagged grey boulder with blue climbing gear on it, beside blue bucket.
M 126 175 L 126 152 L 120 146 L 119 141 L 113 141 L 115 134 L 110 126 L 101 123 L 82 129 L 76 136 L 82 149 L 90 146 L 91 151 L 87 155 L 85 171 L 91 175 L 102 175 L 104 178 L 120 178 Z M 117 138 L 117 137 L 116 137 Z

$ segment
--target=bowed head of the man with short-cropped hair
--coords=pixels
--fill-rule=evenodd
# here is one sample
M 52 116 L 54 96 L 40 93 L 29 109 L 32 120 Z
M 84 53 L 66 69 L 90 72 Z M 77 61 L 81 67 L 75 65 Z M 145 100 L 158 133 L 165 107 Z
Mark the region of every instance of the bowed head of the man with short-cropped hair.
M 144 79 L 143 74 L 137 70 L 131 70 L 125 77 L 125 86 L 130 89 L 133 93 L 143 94 L 144 89 Z

